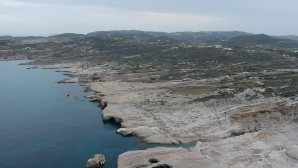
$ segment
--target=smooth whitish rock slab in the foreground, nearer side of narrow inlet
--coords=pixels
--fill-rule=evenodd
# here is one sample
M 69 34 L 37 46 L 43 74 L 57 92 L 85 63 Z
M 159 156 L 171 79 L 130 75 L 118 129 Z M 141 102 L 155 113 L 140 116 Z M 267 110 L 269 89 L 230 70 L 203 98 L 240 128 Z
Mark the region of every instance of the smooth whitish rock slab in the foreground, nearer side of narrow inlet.
M 282 123 L 264 131 L 196 147 L 129 151 L 118 158 L 118 168 L 297 168 L 298 125 Z M 152 159 L 154 159 L 152 162 Z

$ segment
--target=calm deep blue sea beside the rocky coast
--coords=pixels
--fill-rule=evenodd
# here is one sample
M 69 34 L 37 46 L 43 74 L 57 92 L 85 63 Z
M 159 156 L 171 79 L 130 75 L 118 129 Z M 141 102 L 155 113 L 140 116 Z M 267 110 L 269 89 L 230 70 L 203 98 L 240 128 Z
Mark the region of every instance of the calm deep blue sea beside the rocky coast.
M 93 93 L 55 84 L 65 76 L 25 70 L 22 62 L 0 61 L 0 168 L 84 168 L 98 153 L 106 157 L 100 168 L 116 168 L 121 153 L 160 146 L 116 134 L 119 126 L 102 122 L 98 103 L 83 98 Z

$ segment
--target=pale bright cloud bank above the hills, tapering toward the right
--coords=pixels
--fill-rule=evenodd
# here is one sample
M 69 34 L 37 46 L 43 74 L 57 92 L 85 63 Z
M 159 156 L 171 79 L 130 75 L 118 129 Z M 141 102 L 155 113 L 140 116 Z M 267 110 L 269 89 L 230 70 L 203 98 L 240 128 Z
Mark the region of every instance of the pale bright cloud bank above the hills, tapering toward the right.
M 6 8 L 4 15 L 0 17 L 0 22 L 7 23 L 0 31 L 34 32 L 34 35 L 62 32 L 88 33 L 111 29 L 198 31 L 224 23 L 224 19 L 220 17 L 131 11 L 100 5 L 41 4 L 0 0 L 0 6 Z

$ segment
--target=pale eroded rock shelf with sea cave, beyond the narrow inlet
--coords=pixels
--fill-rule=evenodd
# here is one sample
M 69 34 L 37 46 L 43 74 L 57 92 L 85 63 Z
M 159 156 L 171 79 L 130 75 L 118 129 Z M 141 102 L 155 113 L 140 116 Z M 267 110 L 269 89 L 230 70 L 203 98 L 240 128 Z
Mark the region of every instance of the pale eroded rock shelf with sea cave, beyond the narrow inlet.
M 109 102 L 102 119 L 114 118 L 122 124 L 117 130 L 124 136 L 135 135 L 146 143 L 188 143 L 194 140 L 218 140 L 256 132 L 269 124 L 297 118 L 297 103 L 280 97 L 247 100 L 252 89 L 229 99 L 192 102 L 198 96 L 173 95 L 167 87 L 204 85 L 206 81 L 141 84 L 125 82 L 92 83 L 102 101 Z M 208 84 L 208 82 L 207 82 Z M 146 88 L 146 89 L 145 89 Z M 214 93 L 207 93 L 207 96 Z

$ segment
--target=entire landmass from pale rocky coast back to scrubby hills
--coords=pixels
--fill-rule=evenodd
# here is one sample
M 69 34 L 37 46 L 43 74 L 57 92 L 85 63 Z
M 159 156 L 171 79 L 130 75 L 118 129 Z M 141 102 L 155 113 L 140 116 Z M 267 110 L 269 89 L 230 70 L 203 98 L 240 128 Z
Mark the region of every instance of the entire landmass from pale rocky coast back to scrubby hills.
M 0 60 L 30 59 L 23 64 L 70 77 L 58 83 L 86 86 L 102 120 L 121 125 L 118 134 L 148 144 L 197 142 L 127 151 L 119 168 L 298 167 L 297 41 L 129 32 L 2 36 Z

